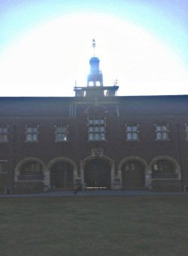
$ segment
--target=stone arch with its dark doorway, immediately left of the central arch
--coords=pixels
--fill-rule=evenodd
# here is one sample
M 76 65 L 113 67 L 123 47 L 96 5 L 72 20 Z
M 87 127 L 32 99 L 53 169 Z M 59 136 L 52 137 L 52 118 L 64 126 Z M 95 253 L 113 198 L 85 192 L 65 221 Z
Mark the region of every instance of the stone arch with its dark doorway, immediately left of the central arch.
M 58 163 L 60 163 L 61 165 L 61 168 L 59 168 L 59 171 L 57 170 Z M 68 165 L 65 163 L 68 163 Z M 54 187 L 53 185 L 56 183 L 55 187 L 71 189 L 75 181 L 79 180 L 78 173 L 77 173 L 77 166 L 71 159 L 68 159 L 67 157 L 64 157 L 64 156 L 52 159 L 47 164 L 47 170 L 49 171 L 50 187 L 51 186 Z M 62 181 L 57 181 L 58 178 L 61 178 Z

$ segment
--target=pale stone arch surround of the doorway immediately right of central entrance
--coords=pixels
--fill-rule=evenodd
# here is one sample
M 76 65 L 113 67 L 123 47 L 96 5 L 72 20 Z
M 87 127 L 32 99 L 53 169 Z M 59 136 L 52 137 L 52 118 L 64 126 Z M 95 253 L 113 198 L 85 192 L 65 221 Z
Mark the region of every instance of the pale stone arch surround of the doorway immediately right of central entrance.
M 125 179 L 125 177 L 123 177 L 124 176 L 123 165 L 125 165 L 126 162 L 135 162 L 135 163 L 137 162 L 138 163 L 138 165 L 141 168 L 141 172 L 143 173 L 143 174 L 141 174 L 141 176 L 142 175 L 143 176 L 140 177 L 141 180 L 142 180 L 141 181 L 141 183 L 142 183 L 141 187 L 149 187 L 149 185 L 150 185 L 150 176 L 148 174 L 148 164 L 144 159 L 142 159 L 139 156 L 127 156 L 127 157 L 125 157 L 124 159 L 122 159 L 120 161 L 120 163 L 118 165 L 118 174 L 120 176 L 122 186 L 123 186 L 123 182 L 124 182 L 123 178 Z M 136 173 L 132 173 L 132 179 L 135 179 L 135 177 L 133 177 L 133 174 L 136 175 Z M 128 178 L 128 177 L 126 177 L 126 178 Z

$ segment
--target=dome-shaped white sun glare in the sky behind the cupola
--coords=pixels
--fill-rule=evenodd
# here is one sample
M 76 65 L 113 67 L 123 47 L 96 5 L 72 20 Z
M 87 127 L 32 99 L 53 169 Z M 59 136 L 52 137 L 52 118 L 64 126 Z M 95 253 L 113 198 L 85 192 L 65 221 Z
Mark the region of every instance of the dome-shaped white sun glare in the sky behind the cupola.
M 3 96 L 74 96 L 75 80 L 86 86 L 92 39 L 104 85 L 117 79 L 118 95 L 180 94 L 180 86 L 187 88 L 180 58 L 155 35 L 116 17 L 72 14 L 30 29 L 7 48 L 0 63 Z

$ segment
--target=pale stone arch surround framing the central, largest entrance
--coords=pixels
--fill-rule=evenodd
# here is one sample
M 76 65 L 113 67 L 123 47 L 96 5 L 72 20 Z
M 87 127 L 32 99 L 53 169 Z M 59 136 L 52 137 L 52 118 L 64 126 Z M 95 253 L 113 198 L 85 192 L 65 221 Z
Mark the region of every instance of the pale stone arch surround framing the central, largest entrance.
M 109 181 L 109 186 L 108 188 L 113 188 L 113 183 L 112 180 L 114 180 L 114 160 L 110 159 L 108 156 L 88 156 L 86 157 L 86 159 L 83 159 L 81 161 L 81 166 L 80 166 L 80 177 L 82 180 L 82 184 L 85 183 L 85 179 L 84 179 L 84 171 L 85 171 L 85 167 L 86 165 L 90 162 L 90 161 L 95 161 L 96 162 L 102 162 L 104 161 L 104 163 L 106 162 L 109 165 L 109 172 L 110 172 L 110 181 Z M 97 161 L 99 160 L 99 161 Z M 108 178 L 108 177 L 107 177 Z

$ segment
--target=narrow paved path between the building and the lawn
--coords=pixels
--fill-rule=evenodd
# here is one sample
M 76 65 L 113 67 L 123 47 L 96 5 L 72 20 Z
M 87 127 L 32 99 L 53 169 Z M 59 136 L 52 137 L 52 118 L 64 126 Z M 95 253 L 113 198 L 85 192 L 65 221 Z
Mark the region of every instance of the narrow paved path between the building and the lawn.
M 79 191 L 76 196 L 161 196 L 161 195 L 183 195 L 188 196 L 188 193 L 162 193 L 162 192 L 151 192 L 148 190 L 90 190 L 90 191 Z M 74 196 L 73 191 L 53 191 L 46 193 L 34 193 L 34 194 L 23 194 L 23 195 L 0 195 L 1 197 L 31 197 L 31 196 Z

